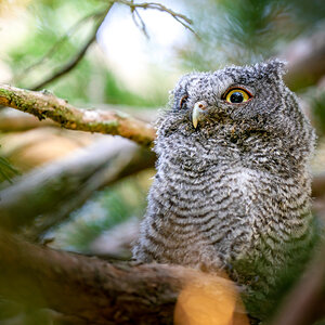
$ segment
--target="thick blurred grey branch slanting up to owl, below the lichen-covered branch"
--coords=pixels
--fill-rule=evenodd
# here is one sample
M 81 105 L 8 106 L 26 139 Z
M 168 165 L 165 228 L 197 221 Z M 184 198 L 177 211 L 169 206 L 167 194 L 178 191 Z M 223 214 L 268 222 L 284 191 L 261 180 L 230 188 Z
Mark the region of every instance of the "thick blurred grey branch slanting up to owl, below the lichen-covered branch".
M 73 156 L 34 170 L 0 192 L 0 224 L 18 230 L 38 218 L 35 239 L 65 220 L 93 192 L 152 167 L 155 155 L 125 139 L 102 139 Z

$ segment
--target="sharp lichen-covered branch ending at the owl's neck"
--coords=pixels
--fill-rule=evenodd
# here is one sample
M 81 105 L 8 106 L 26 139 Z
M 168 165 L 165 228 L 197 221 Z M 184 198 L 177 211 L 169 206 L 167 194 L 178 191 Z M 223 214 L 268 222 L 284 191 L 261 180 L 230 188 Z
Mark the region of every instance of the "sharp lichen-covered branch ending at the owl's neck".
M 151 125 L 125 113 L 79 109 L 47 92 L 0 84 L 0 105 L 50 118 L 66 129 L 121 135 L 142 145 L 151 145 L 156 136 Z

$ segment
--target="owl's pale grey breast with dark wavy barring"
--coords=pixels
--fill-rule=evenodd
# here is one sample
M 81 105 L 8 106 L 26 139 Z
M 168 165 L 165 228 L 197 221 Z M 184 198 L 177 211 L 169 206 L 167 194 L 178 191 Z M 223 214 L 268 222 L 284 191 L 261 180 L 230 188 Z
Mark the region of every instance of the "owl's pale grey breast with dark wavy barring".
M 157 230 L 168 233 L 169 242 L 199 243 L 224 261 L 242 253 L 257 235 L 256 180 L 253 171 L 240 166 L 230 170 L 217 164 L 195 171 L 160 166 L 151 193 L 155 213 L 161 216 Z

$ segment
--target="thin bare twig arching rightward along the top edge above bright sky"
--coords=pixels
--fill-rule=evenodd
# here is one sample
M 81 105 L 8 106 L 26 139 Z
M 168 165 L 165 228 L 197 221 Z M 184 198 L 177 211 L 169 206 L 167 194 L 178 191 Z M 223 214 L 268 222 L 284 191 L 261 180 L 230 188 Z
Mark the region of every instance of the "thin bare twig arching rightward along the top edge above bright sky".
M 172 11 L 171 9 L 168 9 L 167 6 L 162 5 L 161 3 L 157 2 L 143 2 L 143 3 L 134 3 L 133 1 L 127 1 L 127 0 L 116 0 L 115 2 L 122 3 L 126 5 L 129 5 L 131 11 L 133 12 L 136 8 L 142 9 L 154 9 L 162 12 L 167 12 L 170 14 L 176 21 L 178 21 L 181 25 L 183 25 L 186 29 L 191 30 L 195 36 L 197 34 L 195 30 L 190 26 L 193 24 L 193 22 L 186 17 L 183 14 L 180 14 L 178 12 Z M 198 36 L 197 36 L 198 37 Z

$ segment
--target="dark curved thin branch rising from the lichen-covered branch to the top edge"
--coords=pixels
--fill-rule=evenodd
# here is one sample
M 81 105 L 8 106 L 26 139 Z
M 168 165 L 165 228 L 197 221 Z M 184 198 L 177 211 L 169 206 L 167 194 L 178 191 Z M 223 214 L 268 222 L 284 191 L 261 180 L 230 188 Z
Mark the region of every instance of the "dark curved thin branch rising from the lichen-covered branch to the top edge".
M 31 90 L 39 90 L 42 89 L 46 84 L 54 81 L 55 79 L 62 77 L 63 75 L 67 74 L 70 72 L 74 67 L 77 66 L 77 64 L 81 61 L 81 58 L 84 56 L 87 50 L 90 48 L 90 46 L 95 41 L 96 39 L 96 34 L 99 28 L 101 27 L 103 21 L 105 20 L 105 16 L 107 15 L 108 11 L 113 6 L 114 2 L 110 2 L 108 8 L 102 13 L 101 17 L 99 18 L 98 24 L 95 25 L 92 34 L 90 35 L 88 41 L 83 44 L 81 49 L 75 54 L 75 56 L 67 62 L 64 66 L 62 66 L 58 70 L 54 72 L 52 76 L 47 78 L 46 80 L 39 82 L 38 84 L 35 84 Z

